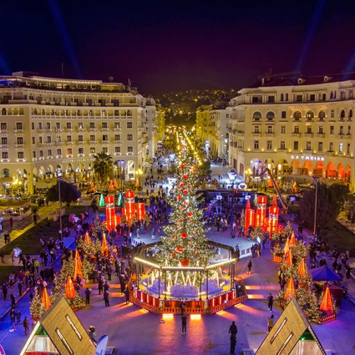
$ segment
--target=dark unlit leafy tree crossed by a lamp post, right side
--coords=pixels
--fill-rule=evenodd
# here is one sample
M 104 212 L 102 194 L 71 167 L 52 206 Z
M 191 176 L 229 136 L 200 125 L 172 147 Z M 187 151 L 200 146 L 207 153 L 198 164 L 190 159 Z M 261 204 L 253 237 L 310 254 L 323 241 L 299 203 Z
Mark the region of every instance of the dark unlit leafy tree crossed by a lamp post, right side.
M 318 184 L 317 187 L 317 225 L 324 228 L 334 221 L 340 212 L 340 207 L 349 194 L 349 187 L 344 184 Z M 314 225 L 315 189 L 303 192 L 301 200 L 301 219 L 308 227 Z

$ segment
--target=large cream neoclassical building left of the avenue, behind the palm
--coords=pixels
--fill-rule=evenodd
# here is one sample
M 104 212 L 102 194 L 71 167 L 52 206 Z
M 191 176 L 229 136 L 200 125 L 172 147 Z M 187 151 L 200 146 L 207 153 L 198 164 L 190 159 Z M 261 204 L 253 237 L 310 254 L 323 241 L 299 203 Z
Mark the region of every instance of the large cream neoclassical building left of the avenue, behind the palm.
M 24 72 L 0 77 L 2 192 L 16 181 L 32 193 L 58 169 L 87 180 L 102 151 L 128 178 L 154 155 L 157 136 L 155 101 L 134 88 Z

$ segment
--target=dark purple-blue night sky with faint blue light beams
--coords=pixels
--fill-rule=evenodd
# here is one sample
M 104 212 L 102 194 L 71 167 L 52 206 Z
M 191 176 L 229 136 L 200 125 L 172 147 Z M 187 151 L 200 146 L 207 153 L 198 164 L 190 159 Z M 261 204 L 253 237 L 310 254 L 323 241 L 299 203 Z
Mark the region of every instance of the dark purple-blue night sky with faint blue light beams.
M 242 88 L 269 70 L 355 70 L 355 1 L 1 1 L 0 73 L 143 93 Z

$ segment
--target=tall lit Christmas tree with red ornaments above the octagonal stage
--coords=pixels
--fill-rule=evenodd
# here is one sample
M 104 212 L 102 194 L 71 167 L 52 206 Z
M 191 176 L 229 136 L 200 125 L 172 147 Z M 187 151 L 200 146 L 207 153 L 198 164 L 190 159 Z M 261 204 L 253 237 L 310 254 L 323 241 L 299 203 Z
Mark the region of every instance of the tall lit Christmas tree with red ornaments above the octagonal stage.
M 170 214 L 172 223 L 164 228 L 166 236 L 161 237 L 163 245 L 159 246 L 157 260 L 162 266 L 205 267 L 215 251 L 207 243 L 203 210 L 198 207 L 199 196 L 196 194 L 196 166 L 186 150 L 180 152 L 176 168 L 176 186 L 168 201 L 173 208 Z M 187 276 L 193 278 L 192 274 L 181 274 L 181 277 L 186 280 Z M 170 276 L 171 279 L 180 281 L 180 276 Z

